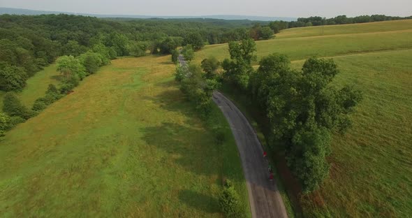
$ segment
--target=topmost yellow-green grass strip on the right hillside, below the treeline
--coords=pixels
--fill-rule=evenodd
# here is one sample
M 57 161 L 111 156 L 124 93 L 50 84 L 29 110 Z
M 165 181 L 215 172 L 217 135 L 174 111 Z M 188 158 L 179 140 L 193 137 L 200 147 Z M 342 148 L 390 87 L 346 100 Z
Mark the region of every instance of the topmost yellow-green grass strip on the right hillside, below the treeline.
M 337 34 L 364 34 L 383 31 L 399 31 L 411 29 L 412 20 L 392 20 L 369 22 L 363 24 L 328 25 L 317 27 L 300 27 L 284 29 L 276 38 L 296 38 L 308 36 L 328 36 Z

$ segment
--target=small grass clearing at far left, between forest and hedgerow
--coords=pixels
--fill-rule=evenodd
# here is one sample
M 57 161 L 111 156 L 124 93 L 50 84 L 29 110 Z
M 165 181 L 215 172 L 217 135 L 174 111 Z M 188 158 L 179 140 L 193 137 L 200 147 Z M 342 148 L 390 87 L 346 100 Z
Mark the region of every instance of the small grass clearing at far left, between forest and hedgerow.
M 31 108 L 36 99 L 43 97 L 47 91 L 49 84 L 57 85 L 59 83 L 59 72 L 57 72 L 56 64 L 50 64 L 42 71 L 38 71 L 27 80 L 27 85 L 22 92 L 17 92 L 20 101 Z M 4 92 L 0 92 L 0 106 L 3 106 Z

